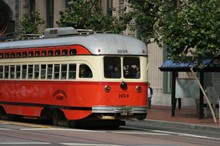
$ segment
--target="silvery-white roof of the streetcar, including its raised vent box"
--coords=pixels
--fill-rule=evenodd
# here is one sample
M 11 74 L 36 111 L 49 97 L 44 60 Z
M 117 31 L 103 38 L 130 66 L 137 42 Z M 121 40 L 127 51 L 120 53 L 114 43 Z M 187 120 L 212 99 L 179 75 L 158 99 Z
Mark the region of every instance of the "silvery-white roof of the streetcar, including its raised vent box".
M 52 34 L 50 34 L 52 32 Z M 147 55 L 146 45 L 130 36 L 108 33 L 80 33 L 72 28 L 50 28 L 40 39 L 19 40 L 0 43 L 0 49 L 38 48 L 53 46 L 81 45 L 92 54 Z

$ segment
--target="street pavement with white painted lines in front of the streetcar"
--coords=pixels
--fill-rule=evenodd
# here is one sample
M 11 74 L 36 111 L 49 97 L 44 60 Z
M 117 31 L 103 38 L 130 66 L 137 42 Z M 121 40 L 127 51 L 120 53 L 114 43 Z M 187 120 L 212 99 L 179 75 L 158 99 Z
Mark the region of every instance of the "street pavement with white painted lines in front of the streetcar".
M 0 146 L 217 146 L 220 134 L 147 127 L 128 121 L 116 130 L 56 127 L 0 120 Z

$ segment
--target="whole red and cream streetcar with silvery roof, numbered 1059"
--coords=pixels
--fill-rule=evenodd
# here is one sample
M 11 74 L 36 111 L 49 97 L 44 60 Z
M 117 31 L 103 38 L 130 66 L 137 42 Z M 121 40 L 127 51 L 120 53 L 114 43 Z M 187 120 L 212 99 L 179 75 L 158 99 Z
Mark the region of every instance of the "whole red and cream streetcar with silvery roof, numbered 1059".
M 120 34 L 48 28 L 37 39 L 1 42 L 0 116 L 82 126 L 143 120 L 146 70 L 146 45 Z

